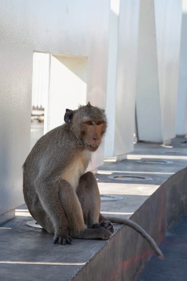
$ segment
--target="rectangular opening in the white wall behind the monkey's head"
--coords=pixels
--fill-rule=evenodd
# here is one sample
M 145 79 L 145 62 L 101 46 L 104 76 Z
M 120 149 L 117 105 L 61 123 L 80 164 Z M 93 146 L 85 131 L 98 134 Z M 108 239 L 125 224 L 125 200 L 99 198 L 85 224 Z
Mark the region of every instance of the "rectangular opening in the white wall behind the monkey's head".
M 64 123 L 65 109 L 86 103 L 88 57 L 33 53 L 31 145 Z

